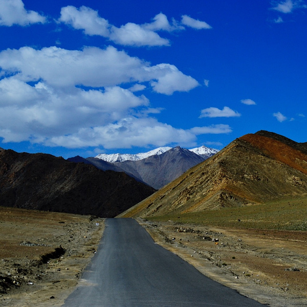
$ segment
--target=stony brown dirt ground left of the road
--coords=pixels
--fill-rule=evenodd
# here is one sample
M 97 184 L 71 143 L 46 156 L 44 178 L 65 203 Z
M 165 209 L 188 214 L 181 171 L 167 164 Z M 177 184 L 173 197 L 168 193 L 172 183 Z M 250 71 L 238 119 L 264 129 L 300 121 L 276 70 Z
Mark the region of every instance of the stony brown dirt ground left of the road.
M 0 207 L 0 305 L 62 305 L 103 229 L 94 216 Z

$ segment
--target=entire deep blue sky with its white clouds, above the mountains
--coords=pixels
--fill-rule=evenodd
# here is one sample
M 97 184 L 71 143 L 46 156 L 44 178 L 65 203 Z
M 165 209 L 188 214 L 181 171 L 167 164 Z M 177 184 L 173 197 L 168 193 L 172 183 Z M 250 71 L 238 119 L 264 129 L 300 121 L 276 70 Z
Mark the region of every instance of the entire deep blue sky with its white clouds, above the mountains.
M 0 0 L 0 147 L 306 142 L 307 2 Z

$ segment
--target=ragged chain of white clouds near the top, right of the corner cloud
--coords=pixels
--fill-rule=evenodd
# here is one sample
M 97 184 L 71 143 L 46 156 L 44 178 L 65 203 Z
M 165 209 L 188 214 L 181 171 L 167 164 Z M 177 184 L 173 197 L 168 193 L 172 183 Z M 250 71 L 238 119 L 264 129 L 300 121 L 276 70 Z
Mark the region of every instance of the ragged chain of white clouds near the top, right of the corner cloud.
M 61 8 L 58 19 L 61 23 L 72 26 L 74 29 L 83 30 L 87 35 L 101 35 L 124 46 L 169 46 L 168 39 L 161 37 L 157 31 L 171 32 L 184 30 L 176 20 L 169 23 L 167 16 L 163 13 L 153 17 L 151 23 L 138 25 L 127 23 L 121 27 L 109 24 L 109 21 L 98 15 L 89 7 L 82 6 L 79 9 L 74 6 Z M 188 16 L 182 17 L 182 24 L 194 29 L 210 29 L 204 21 L 196 20 Z M 208 28 L 209 27 L 209 28 Z

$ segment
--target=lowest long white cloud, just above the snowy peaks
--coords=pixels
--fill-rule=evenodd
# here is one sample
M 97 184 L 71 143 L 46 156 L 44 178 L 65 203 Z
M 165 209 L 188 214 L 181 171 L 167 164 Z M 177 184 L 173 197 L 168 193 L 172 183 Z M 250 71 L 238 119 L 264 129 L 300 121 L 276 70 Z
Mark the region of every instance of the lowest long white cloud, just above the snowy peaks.
M 68 148 L 103 145 L 106 149 L 148 145 L 159 147 L 165 144 L 190 147 L 195 145 L 196 135 L 228 133 L 229 129 L 223 125 L 219 126 L 184 130 L 160 123 L 153 118 L 127 117 L 116 123 L 82 128 L 71 135 L 51 138 L 47 144 Z

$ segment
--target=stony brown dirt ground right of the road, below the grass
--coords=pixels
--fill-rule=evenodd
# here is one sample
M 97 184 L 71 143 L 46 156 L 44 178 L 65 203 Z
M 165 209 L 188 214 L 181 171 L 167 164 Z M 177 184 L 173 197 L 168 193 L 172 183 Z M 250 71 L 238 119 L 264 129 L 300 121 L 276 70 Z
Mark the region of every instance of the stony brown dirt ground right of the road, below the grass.
M 155 242 L 204 275 L 270 306 L 307 305 L 307 233 L 138 219 Z

